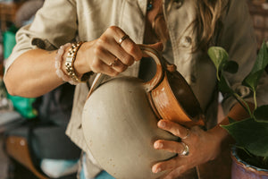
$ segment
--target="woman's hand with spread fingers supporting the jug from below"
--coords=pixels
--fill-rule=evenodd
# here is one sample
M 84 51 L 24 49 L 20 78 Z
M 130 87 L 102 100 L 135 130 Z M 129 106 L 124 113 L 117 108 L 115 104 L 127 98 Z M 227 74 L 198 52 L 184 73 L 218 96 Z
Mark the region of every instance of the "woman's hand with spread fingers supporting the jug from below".
M 164 179 L 176 178 L 188 169 L 204 164 L 216 158 L 221 151 L 221 137 L 214 130 L 205 132 L 198 126 L 187 129 L 180 124 L 168 120 L 160 120 L 158 127 L 172 132 L 180 137 L 179 141 L 155 141 L 155 149 L 164 149 L 177 153 L 178 156 L 163 162 L 156 163 L 152 167 L 154 173 L 167 170 Z M 184 145 L 184 144 L 185 145 Z M 187 151 L 188 148 L 188 152 Z M 187 155 L 182 155 L 186 152 Z

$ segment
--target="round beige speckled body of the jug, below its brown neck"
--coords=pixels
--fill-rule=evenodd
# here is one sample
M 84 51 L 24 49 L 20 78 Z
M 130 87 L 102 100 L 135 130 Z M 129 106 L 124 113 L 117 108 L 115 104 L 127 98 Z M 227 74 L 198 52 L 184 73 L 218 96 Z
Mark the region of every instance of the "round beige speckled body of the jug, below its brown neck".
M 175 155 L 153 147 L 156 139 L 177 138 L 157 128 L 141 84 L 130 77 L 107 81 L 84 107 L 82 127 L 88 149 L 99 165 L 117 179 L 157 178 L 159 175 L 151 172 L 153 164 Z

